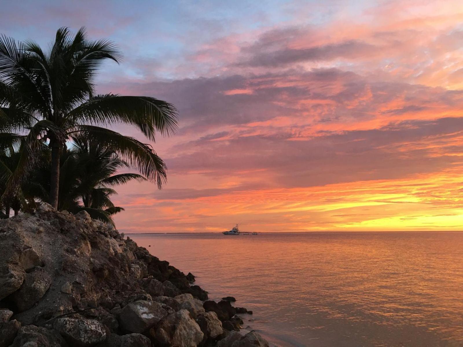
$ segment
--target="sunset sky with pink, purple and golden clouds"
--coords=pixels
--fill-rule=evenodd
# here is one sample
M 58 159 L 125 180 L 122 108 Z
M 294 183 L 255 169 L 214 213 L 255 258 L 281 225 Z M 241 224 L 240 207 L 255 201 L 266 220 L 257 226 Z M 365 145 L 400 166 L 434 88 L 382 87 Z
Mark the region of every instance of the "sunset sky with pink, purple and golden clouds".
M 99 93 L 179 110 L 125 232 L 463 230 L 463 2 L 0 0 L 0 33 L 85 26 Z M 143 136 L 126 127 L 125 135 Z

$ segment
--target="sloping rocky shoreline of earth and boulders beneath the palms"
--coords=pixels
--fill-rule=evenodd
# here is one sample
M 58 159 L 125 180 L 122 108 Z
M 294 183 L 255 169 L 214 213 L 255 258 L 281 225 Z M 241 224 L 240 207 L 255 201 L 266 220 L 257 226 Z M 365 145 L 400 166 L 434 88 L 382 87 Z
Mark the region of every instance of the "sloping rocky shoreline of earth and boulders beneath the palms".
M 41 204 L 0 221 L 0 347 L 268 347 L 233 297 L 208 300 L 117 230 Z

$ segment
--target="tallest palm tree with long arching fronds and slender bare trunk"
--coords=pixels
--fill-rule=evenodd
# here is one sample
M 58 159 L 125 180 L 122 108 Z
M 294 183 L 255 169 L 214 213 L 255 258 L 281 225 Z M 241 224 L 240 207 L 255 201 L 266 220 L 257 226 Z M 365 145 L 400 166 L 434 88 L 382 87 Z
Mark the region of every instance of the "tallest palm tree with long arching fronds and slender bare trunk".
M 0 145 L 27 146 L 17 174 L 37 164 L 40 144 L 51 149 L 49 202 L 57 208 L 60 158 L 70 136 L 81 136 L 111 148 L 159 188 L 166 166 L 149 144 L 106 129 L 129 124 L 154 141 L 156 131 L 169 135 L 177 128 L 177 111 L 165 101 L 144 96 L 95 96 L 94 79 L 105 60 L 119 62 L 121 53 L 108 40 L 89 41 L 84 28 L 74 37 L 68 28 L 56 32 L 50 50 L 33 41 L 17 43 L 0 37 Z M 0 177 L 2 178 L 2 177 Z

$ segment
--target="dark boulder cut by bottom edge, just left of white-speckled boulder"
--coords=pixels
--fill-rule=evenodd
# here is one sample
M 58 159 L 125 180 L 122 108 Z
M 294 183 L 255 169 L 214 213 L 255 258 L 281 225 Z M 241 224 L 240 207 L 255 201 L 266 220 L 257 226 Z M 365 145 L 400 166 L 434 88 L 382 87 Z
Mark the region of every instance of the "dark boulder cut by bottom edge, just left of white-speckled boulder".
M 67 346 L 63 337 L 56 330 L 35 325 L 19 328 L 18 335 L 11 347 L 63 347 Z

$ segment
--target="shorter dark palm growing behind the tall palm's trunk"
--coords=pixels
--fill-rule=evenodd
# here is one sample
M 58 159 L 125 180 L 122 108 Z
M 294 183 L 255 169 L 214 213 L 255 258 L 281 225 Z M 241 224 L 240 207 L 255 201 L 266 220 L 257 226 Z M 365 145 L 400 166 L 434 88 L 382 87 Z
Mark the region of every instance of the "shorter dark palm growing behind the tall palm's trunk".
M 124 211 L 111 201 L 111 196 L 117 194 L 113 187 L 131 180 L 146 180 L 140 174 L 118 173 L 130 165 L 113 150 L 80 137 L 72 138 L 72 145 L 63 151 L 60 163 L 58 210 L 74 213 L 84 210 L 93 219 L 108 224 L 113 224 L 114 214 Z M 34 168 L 23 189 L 34 201 L 47 201 L 49 187 L 50 164 L 45 160 Z

